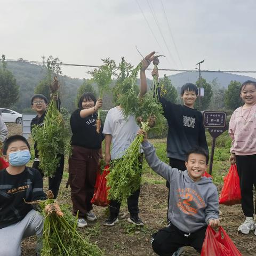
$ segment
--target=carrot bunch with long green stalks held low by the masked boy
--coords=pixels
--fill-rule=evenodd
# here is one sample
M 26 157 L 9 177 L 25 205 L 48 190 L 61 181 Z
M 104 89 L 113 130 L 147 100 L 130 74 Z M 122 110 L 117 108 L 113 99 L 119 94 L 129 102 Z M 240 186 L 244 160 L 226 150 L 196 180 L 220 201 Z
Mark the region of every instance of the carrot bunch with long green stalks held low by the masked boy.
M 34 203 L 34 202 L 32 202 Z M 43 248 L 41 256 L 102 256 L 103 251 L 76 230 L 77 218 L 68 206 L 54 199 L 37 201 L 44 216 Z

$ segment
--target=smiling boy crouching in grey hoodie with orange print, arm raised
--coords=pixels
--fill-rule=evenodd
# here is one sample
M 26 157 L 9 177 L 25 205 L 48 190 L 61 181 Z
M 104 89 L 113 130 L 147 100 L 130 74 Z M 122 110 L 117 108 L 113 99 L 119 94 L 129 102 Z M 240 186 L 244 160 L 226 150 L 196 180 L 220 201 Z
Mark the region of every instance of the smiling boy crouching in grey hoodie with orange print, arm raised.
M 167 256 L 189 245 L 201 252 L 207 225 L 220 226 L 217 188 L 211 178 L 202 177 L 209 155 L 200 147 L 190 149 L 185 161 L 187 170 L 182 172 L 159 160 L 145 131 L 139 130 L 138 134 L 144 135 L 142 148 L 149 166 L 170 182 L 169 225 L 153 235 L 153 250 Z

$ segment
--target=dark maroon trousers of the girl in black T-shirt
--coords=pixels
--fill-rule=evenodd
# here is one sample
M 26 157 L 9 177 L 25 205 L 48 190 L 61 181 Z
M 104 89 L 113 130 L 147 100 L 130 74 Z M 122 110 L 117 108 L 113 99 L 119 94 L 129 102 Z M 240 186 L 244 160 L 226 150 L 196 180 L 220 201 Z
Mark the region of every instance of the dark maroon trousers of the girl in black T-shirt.
M 73 214 L 76 215 L 79 211 L 78 217 L 84 218 L 86 212 L 92 210 L 91 199 L 99 166 L 99 149 L 71 147 L 72 155 L 68 161 L 68 171 Z

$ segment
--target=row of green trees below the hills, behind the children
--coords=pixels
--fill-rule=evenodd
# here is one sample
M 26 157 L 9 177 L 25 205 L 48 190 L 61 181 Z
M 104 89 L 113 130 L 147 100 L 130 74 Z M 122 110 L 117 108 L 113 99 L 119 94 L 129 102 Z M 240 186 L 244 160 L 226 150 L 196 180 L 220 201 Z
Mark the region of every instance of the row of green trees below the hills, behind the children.
M 47 98 L 50 98 L 49 84 L 52 82 L 53 74 L 61 75 L 60 69 L 61 62 L 58 58 L 53 58 L 50 56 L 46 62 L 46 71 L 43 73 L 43 78 L 38 82 L 34 89 L 34 93 L 42 93 Z M 127 75 L 127 67 L 132 67 L 131 63 L 126 62 L 122 58 L 119 63 L 119 70 L 121 78 Z M 121 79 L 120 77 L 113 77 L 112 87 Z M 63 76 L 60 76 L 60 83 L 65 84 Z M 172 85 L 171 80 L 164 75 L 163 78 L 159 79 L 159 83 L 162 85 L 162 91 L 164 92 L 164 97 L 174 103 L 180 103 L 179 92 Z M 230 81 L 228 88 L 225 90 L 218 83 L 218 79 L 215 78 L 211 83 L 208 83 L 206 79 L 201 78 L 201 84 L 199 85 L 199 79 L 196 81 L 196 85 L 204 88 L 204 96 L 201 97 L 201 109 L 202 110 L 234 110 L 241 106 L 241 98 L 239 97 L 239 89 L 241 86 L 240 82 Z M 73 88 L 70 86 L 61 86 L 60 98 L 66 99 L 69 95 L 74 95 Z M 98 96 L 98 87 L 93 83 L 92 79 L 83 79 L 83 83 L 78 87 L 76 95 L 72 99 L 68 99 L 62 105 L 68 111 L 73 111 L 82 93 L 85 91 L 92 92 L 96 97 Z M 5 60 L 5 55 L 2 55 L 1 66 L 0 66 L 0 107 L 12 108 L 18 101 L 21 92 L 19 91 L 19 86 L 13 73 L 7 69 L 7 62 Z M 113 103 L 113 93 L 108 92 L 103 98 L 103 109 L 110 109 L 114 106 Z M 195 102 L 195 108 L 199 109 L 199 100 Z M 20 112 L 28 112 L 29 108 L 19 109 Z

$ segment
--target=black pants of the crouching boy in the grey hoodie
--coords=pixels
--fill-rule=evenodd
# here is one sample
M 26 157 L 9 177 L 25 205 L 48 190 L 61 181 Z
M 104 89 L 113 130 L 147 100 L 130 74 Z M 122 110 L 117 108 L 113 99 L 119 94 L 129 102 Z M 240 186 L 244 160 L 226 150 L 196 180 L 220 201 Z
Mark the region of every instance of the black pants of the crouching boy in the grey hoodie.
M 195 233 L 188 234 L 171 224 L 169 227 L 153 234 L 152 248 L 160 256 L 171 256 L 178 248 L 187 245 L 201 252 L 206 228 L 207 226 L 197 230 Z

